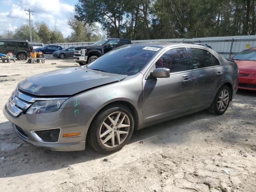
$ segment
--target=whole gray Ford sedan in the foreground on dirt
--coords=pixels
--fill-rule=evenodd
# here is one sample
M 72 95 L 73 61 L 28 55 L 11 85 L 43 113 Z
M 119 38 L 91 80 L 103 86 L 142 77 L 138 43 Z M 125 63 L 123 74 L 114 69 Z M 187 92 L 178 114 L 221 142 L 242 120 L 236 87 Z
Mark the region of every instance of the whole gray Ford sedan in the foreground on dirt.
M 52 150 L 114 152 L 132 132 L 208 109 L 223 114 L 236 94 L 238 66 L 205 46 L 121 46 L 86 66 L 20 82 L 4 115 L 27 142 Z

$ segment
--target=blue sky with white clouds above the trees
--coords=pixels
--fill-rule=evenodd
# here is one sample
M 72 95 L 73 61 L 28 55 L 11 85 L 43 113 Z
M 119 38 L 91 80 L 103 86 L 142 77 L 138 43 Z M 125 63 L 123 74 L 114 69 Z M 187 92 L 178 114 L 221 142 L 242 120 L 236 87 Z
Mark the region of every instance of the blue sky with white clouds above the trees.
M 0 35 L 7 31 L 14 32 L 25 24 L 28 12 L 33 10 L 32 20 L 46 22 L 50 29 L 56 25 L 66 38 L 71 30 L 67 24 L 67 16 L 74 12 L 78 0 L 0 0 Z

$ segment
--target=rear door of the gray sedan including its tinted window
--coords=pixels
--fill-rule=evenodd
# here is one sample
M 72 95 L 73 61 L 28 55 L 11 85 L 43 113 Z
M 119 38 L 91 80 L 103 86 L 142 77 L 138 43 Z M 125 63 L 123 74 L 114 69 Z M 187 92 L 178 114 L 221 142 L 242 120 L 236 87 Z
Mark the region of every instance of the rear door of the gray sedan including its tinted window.
M 223 71 L 218 59 L 204 48 L 189 48 L 189 62 L 193 67 L 195 81 L 191 98 L 192 108 L 197 109 L 212 103 L 223 82 Z

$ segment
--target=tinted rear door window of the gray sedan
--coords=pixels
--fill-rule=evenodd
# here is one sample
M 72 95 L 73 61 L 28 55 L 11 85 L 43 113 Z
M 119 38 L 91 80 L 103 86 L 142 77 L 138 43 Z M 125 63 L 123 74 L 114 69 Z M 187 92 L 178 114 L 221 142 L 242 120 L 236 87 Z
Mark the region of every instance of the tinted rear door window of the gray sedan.
M 194 69 L 213 66 L 212 54 L 204 49 L 190 48 L 192 66 Z

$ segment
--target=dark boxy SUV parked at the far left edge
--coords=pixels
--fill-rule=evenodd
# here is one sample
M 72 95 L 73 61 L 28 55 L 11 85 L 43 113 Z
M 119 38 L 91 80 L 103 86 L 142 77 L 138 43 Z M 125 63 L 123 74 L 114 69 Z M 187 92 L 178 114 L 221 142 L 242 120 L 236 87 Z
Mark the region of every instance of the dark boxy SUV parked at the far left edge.
M 12 52 L 18 60 L 26 60 L 32 49 L 27 40 L 0 39 L 0 53 Z

